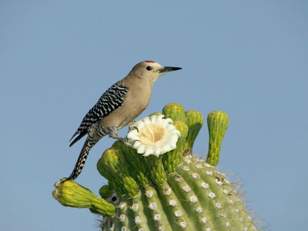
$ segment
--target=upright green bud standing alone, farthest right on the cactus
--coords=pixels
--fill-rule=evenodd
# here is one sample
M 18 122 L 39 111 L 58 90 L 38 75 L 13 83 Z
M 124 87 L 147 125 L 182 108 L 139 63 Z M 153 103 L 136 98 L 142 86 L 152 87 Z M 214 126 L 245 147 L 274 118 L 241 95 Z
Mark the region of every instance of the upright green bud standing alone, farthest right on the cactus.
M 209 152 L 206 163 L 216 166 L 219 161 L 220 147 L 229 126 L 228 115 L 222 111 L 212 111 L 208 118 Z

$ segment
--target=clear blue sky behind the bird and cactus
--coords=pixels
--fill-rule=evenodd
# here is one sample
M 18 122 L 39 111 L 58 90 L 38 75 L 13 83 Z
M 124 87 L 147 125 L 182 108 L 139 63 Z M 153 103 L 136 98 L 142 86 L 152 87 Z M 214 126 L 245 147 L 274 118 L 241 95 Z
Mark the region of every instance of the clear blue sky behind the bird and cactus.
M 307 229 L 307 1 L 51 0 L 0 2 L 0 229 L 99 230 L 88 209 L 55 201 L 53 184 L 74 168 L 83 116 L 143 60 L 183 69 L 156 81 L 138 118 L 171 102 L 226 112 L 219 169 L 270 229 Z M 205 125 L 194 151 L 205 155 L 208 137 Z M 113 142 L 100 140 L 76 179 L 97 195 Z

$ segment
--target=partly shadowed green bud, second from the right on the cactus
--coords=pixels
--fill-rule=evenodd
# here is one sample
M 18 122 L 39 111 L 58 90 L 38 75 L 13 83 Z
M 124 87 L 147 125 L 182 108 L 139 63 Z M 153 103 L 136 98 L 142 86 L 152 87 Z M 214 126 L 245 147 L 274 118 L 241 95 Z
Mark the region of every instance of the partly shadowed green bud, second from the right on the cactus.
M 184 143 L 184 156 L 190 155 L 193 150 L 193 143 L 203 125 L 203 116 L 198 111 L 186 111 L 186 124 L 188 125 L 188 135 Z

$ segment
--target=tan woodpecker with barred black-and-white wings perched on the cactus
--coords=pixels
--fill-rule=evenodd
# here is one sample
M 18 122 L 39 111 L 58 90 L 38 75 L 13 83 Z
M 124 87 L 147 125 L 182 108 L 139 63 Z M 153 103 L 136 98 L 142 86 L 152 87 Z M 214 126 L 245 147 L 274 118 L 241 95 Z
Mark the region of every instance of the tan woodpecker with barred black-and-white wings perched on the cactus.
M 167 72 L 180 69 L 182 68 L 163 67 L 154 61 L 143 61 L 136 64 L 124 79 L 109 87 L 85 115 L 71 138 L 72 140 L 79 134 L 70 147 L 87 134 L 75 168 L 66 180 L 75 180 L 79 176 L 90 149 L 103 136 L 109 135 L 131 147 L 127 138 L 119 137 L 118 130 L 130 124 L 148 107 L 156 79 Z

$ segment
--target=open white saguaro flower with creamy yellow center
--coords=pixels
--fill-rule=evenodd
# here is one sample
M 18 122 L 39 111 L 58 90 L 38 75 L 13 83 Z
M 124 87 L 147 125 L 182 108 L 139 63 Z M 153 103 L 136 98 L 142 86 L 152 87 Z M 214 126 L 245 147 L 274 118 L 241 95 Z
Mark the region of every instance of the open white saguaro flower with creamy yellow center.
M 159 156 L 176 148 L 180 131 L 176 130 L 170 118 L 164 115 L 152 115 L 136 121 L 134 129 L 127 134 L 128 142 L 133 144 L 137 153 L 143 156 Z

